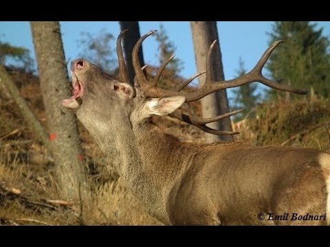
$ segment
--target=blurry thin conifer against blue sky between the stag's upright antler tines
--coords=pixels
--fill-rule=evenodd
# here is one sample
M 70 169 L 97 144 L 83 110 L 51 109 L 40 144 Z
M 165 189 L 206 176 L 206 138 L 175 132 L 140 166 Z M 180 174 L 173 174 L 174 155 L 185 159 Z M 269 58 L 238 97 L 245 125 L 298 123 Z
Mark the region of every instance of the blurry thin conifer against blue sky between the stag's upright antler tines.
M 160 23 L 158 32 L 155 33 L 155 38 L 158 43 L 158 58 L 159 64 L 162 64 L 165 60 L 167 60 L 170 56 L 175 54 L 175 45 L 172 41 L 169 40 L 166 31 L 164 29 L 164 25 Z M 183 69 L 183 62 L 179 58 L 173 58 L 170 63 L 166 66 L 167 71 L 175 76 L 180 73 Z

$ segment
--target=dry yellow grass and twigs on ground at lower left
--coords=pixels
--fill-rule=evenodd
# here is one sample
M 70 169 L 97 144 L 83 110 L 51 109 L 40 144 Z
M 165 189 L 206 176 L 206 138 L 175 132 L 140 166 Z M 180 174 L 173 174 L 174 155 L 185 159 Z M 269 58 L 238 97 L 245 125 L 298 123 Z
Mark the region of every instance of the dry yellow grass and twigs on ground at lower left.
M 73 207 L 50 207 L 47 199 L 58 200 L 52 173 L 41 175 L 19 158 L 0 158 L 0 183 L 18 195 L 0 189 L 0 224 L 47 225 L 159 225 L 144 212 L 140 202 L 124 187 L 120 179 L 102 185 L 90 177 L 91 198 Z M 82 210 L 81 210 L 82 209 Z

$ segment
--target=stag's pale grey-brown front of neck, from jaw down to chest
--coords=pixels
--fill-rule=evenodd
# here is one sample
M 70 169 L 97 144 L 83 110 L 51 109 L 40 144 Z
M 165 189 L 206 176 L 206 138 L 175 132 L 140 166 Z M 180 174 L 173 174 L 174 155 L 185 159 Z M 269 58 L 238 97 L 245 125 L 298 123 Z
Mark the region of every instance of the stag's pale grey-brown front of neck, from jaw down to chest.
M 89 117 L 85 121 L 83 117 L 79 119 L 94 137 L 102 152 L 115 165 L 120 176 L 124 178 L 126 186 L 145 204 L 148 212 L 170 224 L 164 216 L 166 198 L 164 198 L 162 187 L 166 187 L 166 184 L 160 182 L 163 180 L 162 174 L 158 174 L 151 166 L 156 156 L 146 155 L 148 147 L 142 148 L 144 145 L 138 143 L 129 120 L 116 119 L 111 122 L 112 126 L 109 128 L 109 121 L 99 120 L 97 123 L 89 121 L 89 119 L 100 119 L 100 117 Z M 153 143 L 146 144 L 153 145 Z M 151 157 L 153 160 L 148 161 Z M 156 163 L 159 164 L 157 159 Z

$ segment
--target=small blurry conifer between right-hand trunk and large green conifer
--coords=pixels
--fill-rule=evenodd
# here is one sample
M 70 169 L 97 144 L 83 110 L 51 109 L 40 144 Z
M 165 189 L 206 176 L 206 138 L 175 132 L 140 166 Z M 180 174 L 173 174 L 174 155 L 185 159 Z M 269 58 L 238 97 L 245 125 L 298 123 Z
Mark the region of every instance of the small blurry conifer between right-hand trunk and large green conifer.
M 236 70 L 237 77 L 244 75 L 247 71 L 244 68 L 244 62 L 242 58 L 239 58 L 239 69 Z M 243 109 L 243 113 L 239 113 L 235 115 L 235 121 L 242 120 L 245 115 L 247 117 L 254 117 L 255 113 L 252 110 L 259 98 L 261 97 L 260 93 L 256 93 L 257 84 L 246 84 L 243 86 L 239 86 L 236 89 L 232 89 L 232 93 L 234 95 L 234 110 Z

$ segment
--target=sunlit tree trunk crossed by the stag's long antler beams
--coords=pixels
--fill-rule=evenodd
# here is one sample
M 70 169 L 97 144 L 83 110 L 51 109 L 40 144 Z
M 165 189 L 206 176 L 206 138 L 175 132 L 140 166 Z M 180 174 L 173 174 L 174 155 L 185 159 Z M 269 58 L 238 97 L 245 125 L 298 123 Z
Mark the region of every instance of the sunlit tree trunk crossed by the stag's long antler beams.
M 195 60 L 197 64 L 197 70 L 203 71 L 206 66 L 206 56 L 208 55 L 208 49 L 214 40 L 218 40 L 217 23 L 215 21 L 191 21 L 190 27 L 192 30 L 192 39 L 195 49 Z M 212 78 L 214 80 L 224 80 L 223 67 L 221 62 L 220 44 L 215 47 L 212 54 Z M 203 85 L 205 75 L 199 76 L 199 86 Z M 203 117 L 213 117 L 223 113 L 229 112 L 227 93 L 225 90 L 212 93 L 201 99 L 201 110 Z M 230 119 L 226 118 L 222 121 L 218 121 L 212 124 L 208 124 L 211 128 L 218 130 L 232 130 Z M 214 141 L 233 141 L 232 136 L 216 136 L 214 134 L 206 133 L 206 139 L 208 142 Z

